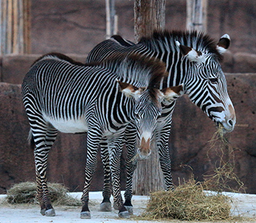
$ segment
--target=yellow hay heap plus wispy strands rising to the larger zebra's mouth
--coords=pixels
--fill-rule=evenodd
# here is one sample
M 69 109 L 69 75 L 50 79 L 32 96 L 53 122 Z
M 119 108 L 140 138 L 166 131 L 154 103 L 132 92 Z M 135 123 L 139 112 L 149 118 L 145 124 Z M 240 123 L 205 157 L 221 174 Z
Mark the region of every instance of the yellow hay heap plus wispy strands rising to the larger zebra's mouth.
M 187 221 L 218 221 L 229 220 L 232 202 L 221 192 L 245 192 L 244 184 L 234 173 L 235 155 L 222 126 L 211 138 L 209 151 L 214 150 L 219 160 L 215 164 L 214 173 L 204 176 L 203 182 L 196 182 L 193 175 L 189 181 L 179 184 L 174 190 L 151 193 L 144 219 L 181 219 Z M 209 159 L 210 156 L 208 155 Z M 229 185 L 234 182 L 238 189 Z M 206 193 L 213 190 L 217 193 Z

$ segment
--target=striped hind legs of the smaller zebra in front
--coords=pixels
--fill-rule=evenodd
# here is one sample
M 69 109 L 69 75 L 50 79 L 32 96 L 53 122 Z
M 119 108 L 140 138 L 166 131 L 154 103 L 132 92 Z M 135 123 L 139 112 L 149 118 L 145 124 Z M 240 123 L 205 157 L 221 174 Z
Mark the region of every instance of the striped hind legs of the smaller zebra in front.
M 42 215 L 55 216 L 55 211 L 50 203 L 48 195 L 46 169 L 48 153 L 56 139 L 58 130 L 43 122 L 44 121 L 41 120 L 40 126 L 37 125 L 37 129 L 34 127 L 31 128 L 34 136 L 34 143 L 36 145 L 36 148 L 34 149 L 34 160 L 37 177 L 37 200 L 39 200 L 41 206 L 40 213 Z

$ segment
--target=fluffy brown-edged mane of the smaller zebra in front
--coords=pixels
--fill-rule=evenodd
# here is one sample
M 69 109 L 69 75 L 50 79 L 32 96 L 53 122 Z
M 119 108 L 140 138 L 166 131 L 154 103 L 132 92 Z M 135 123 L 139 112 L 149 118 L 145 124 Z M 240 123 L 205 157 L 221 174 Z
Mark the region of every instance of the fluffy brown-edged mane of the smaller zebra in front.
M 146 87 L 153 102 L 157 101 L 157 89 L 163 77 L 167 76 L 166 65 L 157 58 L 148 58 L 139 53 L 117 54 L 102 62 L 89 66 L 103 66 L 113 71 L 117 79 L 135 87 Z

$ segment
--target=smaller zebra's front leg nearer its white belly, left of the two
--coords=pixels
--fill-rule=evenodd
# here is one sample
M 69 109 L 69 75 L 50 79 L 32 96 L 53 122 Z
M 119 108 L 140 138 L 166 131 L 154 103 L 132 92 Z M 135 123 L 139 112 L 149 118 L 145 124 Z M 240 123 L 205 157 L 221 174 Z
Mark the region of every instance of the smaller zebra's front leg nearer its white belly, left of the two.
M 97 149 L 102 133 L 98 129 L 89 130 L 87 135 L 87 158 L 86 158 L 86 170 L 85 170 L 85 183 L 83 188 L 82 211 L 80 212 L 81 219 L 91 219 L 91 213 L 89 210 L 89 189 L 91 186 L 91 179 L 97 166 Z

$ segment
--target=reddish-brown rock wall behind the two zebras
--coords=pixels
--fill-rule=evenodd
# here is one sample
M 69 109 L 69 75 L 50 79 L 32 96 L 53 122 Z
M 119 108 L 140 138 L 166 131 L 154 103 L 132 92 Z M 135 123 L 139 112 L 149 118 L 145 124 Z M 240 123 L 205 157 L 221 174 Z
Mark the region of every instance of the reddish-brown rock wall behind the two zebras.
M 133 40 L 133 1 L 116 0 L 119 34 Z M 81 62 L 105 39 L 105 1 L 32 1 L 31 55 L 4 55 L 0 58 L 0 194 L 12 184 L 34 181 L 34 154 L 26 138 L 29 133 L 20 84 L 31 63 L 47 52 L 62 52 Z M 209 1 L 208 34 L 218 41 L 227 33 L 231 46 L 222 69 L 236 109 L 237 125 L 227 138 L 233 149 L 235 173 L 246 192 L 256 193 L 256 2 Z M 166 28 L 185 29 L 186 1 L 167 1 Z M 170 157 L 176 184 L 189 179 L 203 180 L 219 162 L 219 146 L 211 148 L 216 128 L 203 112 L 184 96 L 178 100 L 170 135 Z M 224 159 L 232 156 L 224 149 Z M 122 189 L 125 181 L 125 150 L 122 159 Z M 98 159 L 91 190 L 101 190 L 103 171 Z M 86 134 L 59 133 L 49 154 L 48 181 L 82 191 L 86 162 Z M 236 189 L 237 184 L 230 182 Z

